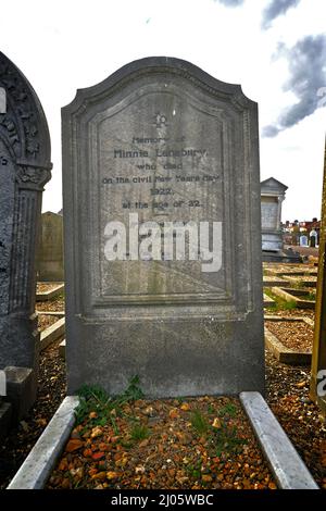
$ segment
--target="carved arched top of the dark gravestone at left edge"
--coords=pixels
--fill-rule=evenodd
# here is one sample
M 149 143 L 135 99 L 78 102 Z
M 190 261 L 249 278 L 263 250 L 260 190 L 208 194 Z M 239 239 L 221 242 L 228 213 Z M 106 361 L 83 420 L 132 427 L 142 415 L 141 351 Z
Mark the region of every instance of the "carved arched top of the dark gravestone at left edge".
M 23 180 L 37 169 L 50 171 L 51 145 L 48 123 L 40 101 L 23 73 L 0 52 L 0 89 L 5 91 L 5 112 L 0 111 L 0 137 L 13 160 L 22 167 Z M 32 171 L 34 167 L 35 171 Z M 27 177 L 26 177 L 27 176 Z M 50 173 L 42 172 L 46 183 Z M 34 176 L 32 182 L 35 183 Z M 40 183 L 39 183 L 40 184 Z

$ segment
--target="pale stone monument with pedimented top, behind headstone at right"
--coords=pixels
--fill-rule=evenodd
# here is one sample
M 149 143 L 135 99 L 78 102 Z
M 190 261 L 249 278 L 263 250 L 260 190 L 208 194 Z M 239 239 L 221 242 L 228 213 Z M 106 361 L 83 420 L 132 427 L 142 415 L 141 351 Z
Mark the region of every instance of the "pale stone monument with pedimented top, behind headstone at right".
M 284 249 L 281 204 L 288 187 L 269 177 L 261 183 L 262 249 L 265 262 L 300 262 L 300 256 Z

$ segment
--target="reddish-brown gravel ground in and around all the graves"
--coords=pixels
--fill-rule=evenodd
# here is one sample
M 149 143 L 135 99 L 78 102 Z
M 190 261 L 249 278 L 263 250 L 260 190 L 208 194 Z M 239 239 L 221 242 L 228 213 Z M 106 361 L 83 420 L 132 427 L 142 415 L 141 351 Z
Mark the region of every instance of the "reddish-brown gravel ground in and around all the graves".
M 313 327 L 297 320 L 312 322 L 314 311 L 298 309 L 268 289 L 267 294 L 275 303 L 265 309 L 265 326 L 289 349 L 311 350 Z M 64 294 L 37 302 L 37 310 L 62 312 Z M 53 321 L 51 314 L 41 315 L 39 327 Z M 62 339 L 41 352 L 38 399 L 1 446 L 1 488 L 8 486 L 65 397 L 65 366 L 59 354 Z M 284 364 L 269 350 L 265 353 L 266 401 L 316 483 L 326 489 L 326 422 L 309 398 L 310 366 Z M 85 388 L 84 395 L 88 401 L 79 407 L 48 488 L 276 488 L 236 398 L 146 400 L 135 382 L 127 394 L 109 402 L 97 389 Z

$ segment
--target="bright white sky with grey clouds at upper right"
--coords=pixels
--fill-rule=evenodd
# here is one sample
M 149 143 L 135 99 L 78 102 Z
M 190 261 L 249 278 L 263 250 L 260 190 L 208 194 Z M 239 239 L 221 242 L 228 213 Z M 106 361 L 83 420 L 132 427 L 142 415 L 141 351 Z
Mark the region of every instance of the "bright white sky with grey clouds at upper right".
M 283 221 L 321 216 L 325 0 L 15 0 L 0 13 L 0 49 L 48 119 L 53 171 L 43 211 L 62 208 L 61 108 L 128 62 L 162 55 L 242 86 L 259 103 L 261 180 L 289 187 Z

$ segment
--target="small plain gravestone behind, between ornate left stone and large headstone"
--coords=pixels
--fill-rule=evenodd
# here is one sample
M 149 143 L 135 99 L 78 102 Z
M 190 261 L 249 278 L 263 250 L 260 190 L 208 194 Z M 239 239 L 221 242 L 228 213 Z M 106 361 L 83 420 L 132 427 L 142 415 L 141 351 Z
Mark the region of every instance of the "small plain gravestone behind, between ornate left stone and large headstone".
M 40 242 L 37 254 L 37 277 L 41 282 L 62 282 L 63 217 L 48 211 L 42 214 Z

